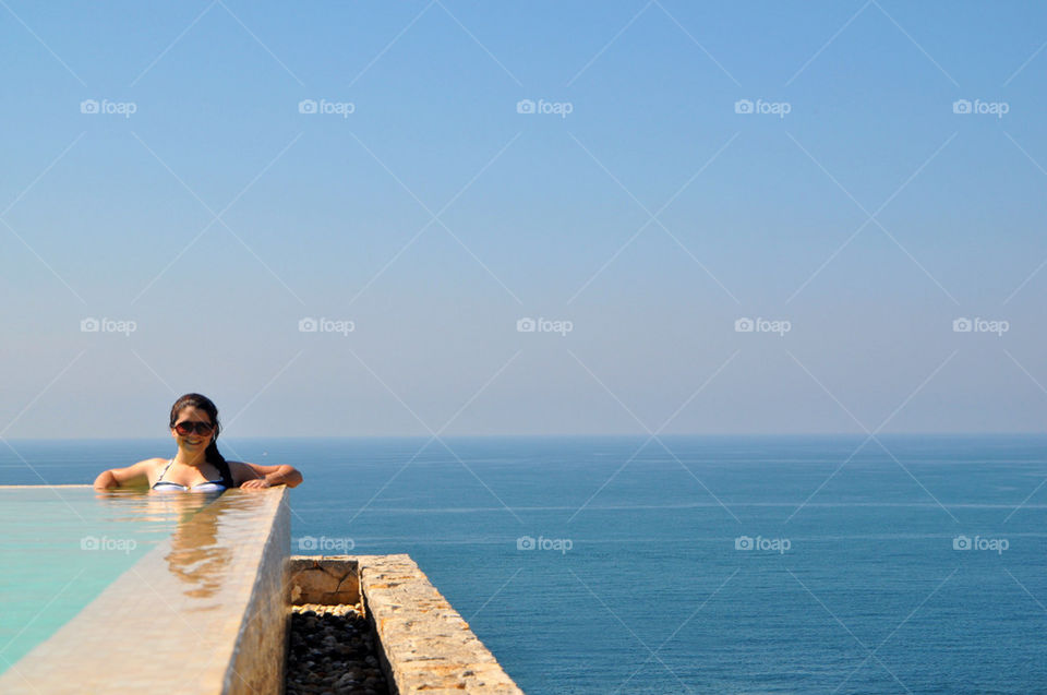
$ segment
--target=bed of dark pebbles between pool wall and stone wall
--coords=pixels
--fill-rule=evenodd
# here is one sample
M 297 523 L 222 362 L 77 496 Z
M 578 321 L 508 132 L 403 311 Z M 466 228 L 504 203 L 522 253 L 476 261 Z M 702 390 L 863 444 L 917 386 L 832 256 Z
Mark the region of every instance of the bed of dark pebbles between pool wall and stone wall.
M 374 645 L 359 604 L 292 607 L 287 695 L 388 693 Z

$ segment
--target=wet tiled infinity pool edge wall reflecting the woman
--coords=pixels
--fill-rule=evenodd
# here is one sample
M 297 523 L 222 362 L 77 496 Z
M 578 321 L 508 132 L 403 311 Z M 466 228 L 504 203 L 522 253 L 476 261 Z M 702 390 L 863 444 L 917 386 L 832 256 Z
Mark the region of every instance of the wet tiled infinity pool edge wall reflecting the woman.
M 0 693 L 281 692 L 287 494 L 225 492 L 0 676 Z

